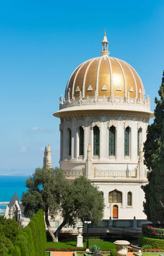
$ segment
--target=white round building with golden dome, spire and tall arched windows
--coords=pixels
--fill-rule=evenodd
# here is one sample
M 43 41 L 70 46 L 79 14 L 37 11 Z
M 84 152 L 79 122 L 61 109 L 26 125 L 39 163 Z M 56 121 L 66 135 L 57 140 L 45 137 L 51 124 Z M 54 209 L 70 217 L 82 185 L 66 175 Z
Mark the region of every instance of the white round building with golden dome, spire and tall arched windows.
M 142 148 L 154 115 L 138 73 L 109 57 L 108 43 L 105 34 L 101 56 L 80 64 L 60 97 L 60 168 L 70 181 L 85 175 L 99 186 L 104 219 L 145 220 Z

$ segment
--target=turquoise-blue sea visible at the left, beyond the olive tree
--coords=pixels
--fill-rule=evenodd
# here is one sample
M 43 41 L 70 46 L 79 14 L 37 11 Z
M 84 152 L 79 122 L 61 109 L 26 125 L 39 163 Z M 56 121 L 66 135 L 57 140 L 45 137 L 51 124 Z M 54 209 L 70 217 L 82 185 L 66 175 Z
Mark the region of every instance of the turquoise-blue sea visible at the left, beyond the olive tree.
M 22 193 L 27 191 L 25 180 L 29 175 L 0 175 L 0 203 L 9 202 L 17 192 L 21 201 Z M 0 209 L 6 209 L 6 204 L 0 204 Z

